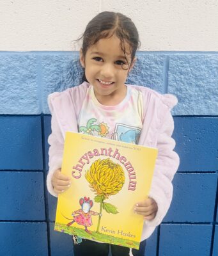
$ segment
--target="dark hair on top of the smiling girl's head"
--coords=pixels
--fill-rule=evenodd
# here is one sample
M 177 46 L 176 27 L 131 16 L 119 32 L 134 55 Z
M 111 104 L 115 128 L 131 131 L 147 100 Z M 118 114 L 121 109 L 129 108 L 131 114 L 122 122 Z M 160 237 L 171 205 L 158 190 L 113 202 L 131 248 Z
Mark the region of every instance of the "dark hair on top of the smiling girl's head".
M 82 41 L 82 55 L 86 56 L 86 52 L 91 45 L 94 45 L 102 38 L 109 38 L 116 35 L 121 42 L 121 49 L 126 57 L 126 43 L 130 45 L 131 63 L 134 60 L 136 51 L 140 45 L 139 34 L 132 20 L 121 13 L 101 12 L 95 16 L 78 40 Z M 127 60 L 128 63 L 128 60 Z M 128 63 L 130 66 L 131 63 Z

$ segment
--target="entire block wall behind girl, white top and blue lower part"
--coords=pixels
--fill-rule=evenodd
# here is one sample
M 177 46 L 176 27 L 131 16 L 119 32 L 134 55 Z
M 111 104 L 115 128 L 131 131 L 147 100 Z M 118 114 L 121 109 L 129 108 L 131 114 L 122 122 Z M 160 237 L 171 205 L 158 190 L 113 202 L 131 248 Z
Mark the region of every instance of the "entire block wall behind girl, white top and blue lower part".
M 192 0 L 1 1 L 0 255 L 72 255 L 70 236 L 54 232 L 56 198 L 45 186 L 47 95 L 81 82 L 72 40 L 104 10 L 139 30 L 128 83 L 179 100 L 173 203 L 146 256 L 217 256 L 218 2 Z

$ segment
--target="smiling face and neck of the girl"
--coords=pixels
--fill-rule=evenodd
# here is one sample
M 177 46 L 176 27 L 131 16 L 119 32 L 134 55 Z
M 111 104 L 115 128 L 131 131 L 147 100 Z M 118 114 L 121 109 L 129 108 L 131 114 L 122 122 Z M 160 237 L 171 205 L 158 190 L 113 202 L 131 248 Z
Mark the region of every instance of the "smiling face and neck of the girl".
M 130 47 L 127 44 L 125 48 L 128 63 L 131 63 Z M 115 35 L 102 38 L 88 49 L 86 56 L 82 56 L 82 51 L 80 54 L 86 79 L 93 86 L 98 101 L 105 106 L 119 104 L 127 93 L 124 83 L 135 61 L 128 66 L 120 39 Z

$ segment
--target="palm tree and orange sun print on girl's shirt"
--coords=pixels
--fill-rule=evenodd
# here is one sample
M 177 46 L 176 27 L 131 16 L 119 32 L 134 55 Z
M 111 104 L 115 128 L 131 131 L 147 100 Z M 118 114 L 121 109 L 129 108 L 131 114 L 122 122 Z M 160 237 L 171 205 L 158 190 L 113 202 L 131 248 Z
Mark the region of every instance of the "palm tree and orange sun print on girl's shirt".
M 97 122 L 97 119 L 91 118 L 88 120 L 86 126 L 80 126 L 79 132 L 84 134 L 95 135 L 95 132 L 98 132 L 98 135 L 105 137 L 109 133 L 109 127 L 104 122 L 100 124 L 94 124 Z

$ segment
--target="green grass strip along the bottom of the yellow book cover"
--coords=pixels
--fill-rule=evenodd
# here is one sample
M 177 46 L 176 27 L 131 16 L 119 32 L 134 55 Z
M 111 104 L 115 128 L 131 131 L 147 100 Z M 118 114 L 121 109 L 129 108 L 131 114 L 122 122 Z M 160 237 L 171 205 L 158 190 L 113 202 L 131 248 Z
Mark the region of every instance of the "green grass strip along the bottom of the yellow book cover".
M 54 230 L 59 231 L 59 232 L 64 232 L 70 235 L 76 235 L 82 238 L 90 239 L 93 241 L 102 241 L 104 243 L 109 243 L 109 244 L 117 244 L 121 246 L 126 246 L 130 248 L 139 248 L 139 242 L 128 240 L 128 239 L 123 239 L 120 237 L 114 237 L 114 236 L 109 236 L 105 234 L 101 234 L 99 232 L 92 231 L 91 234 L 88 234 L 84 229 L 82 228 L 75 228 L 75 227 L 67 227 L 64 224 L 55 223 Z

